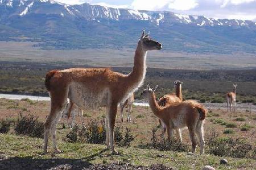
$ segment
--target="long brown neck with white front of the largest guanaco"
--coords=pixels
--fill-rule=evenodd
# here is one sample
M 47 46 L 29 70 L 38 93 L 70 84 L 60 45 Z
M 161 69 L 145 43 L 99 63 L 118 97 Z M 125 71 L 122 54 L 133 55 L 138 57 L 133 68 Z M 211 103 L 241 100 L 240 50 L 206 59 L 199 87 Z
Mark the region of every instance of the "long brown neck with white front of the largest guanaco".
M 131 83 L 130 86 L 133 86 L 133 84 L 137 87 L 142 85 L 147 68 L 146 55 L 147 52 L 143 49 L 142 43 L 139 41 L 135 51 L 133 71 L 128 75 L 128 80 L 126 81 Z

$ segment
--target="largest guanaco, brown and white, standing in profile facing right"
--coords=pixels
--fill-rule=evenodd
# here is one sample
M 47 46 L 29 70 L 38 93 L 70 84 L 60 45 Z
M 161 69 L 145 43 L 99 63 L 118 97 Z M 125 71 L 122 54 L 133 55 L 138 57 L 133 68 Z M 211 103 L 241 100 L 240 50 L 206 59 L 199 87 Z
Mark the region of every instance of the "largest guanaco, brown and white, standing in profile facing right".
M 47 152 L 50 131 L 53 134 L 55 151 L 59 152 L 56 146 L 56 125 L 69 98 L 81 109 L 85 109 L 85 104 L 90 107 L 107 107 L 106 145 L 117 154 L 114 148 L 117 106 L 142 85 L 146 74 L 146 52 L 156 49 L 162 49 L 162 45 L 151 40 L 143 31 L 135 51 L 133 71 L 130 74 L 102 68 L 71 68 L 48 72 L 46 86 L 51 96 L 51 111 L 44 124 L 44 152 Z

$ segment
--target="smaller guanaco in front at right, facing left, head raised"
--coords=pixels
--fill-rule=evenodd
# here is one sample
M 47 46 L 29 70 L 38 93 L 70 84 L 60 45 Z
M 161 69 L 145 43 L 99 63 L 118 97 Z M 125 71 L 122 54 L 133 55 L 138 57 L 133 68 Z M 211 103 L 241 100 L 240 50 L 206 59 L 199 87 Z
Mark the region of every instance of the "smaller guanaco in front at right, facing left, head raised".
M 197 145 L 195 135 L 200 139 L 200 153 L 204 153 L 203 120 L 207 115 L 207 110 L 200 103 L 187 100 L 161 107 L 155 100 L 154 90 L 150 89 L 149 86 L 143 91 L 143 94 L 147 94 L 152 112 L 166 125 L 168 139 L 171 138 L 175 128 L 186 126 L 189 130 L 193 154 L 195 154 Z

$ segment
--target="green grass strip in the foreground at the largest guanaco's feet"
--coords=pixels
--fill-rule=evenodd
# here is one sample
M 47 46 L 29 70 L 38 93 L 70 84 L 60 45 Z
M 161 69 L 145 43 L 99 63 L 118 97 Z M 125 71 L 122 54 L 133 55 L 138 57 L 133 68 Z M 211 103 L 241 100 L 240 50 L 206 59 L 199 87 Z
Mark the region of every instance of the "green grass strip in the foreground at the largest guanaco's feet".
M 0 134 L 0 138 L 1 154 L 6 153 L 5 156 L 9 158 L 16 157 L 16 159 L 33 159 L 34 161 L 71 159 L 71 161 L 81 160 L 82 163 L 92 164 L 116 163 L 119 161 L 119 163 L 135 165 L 164 164 L 178 169 L 201 169 L 204 165 L 212 165 L 216 169 L 255 168 L 255 160 L 252 159 L 225 157 L 229 164 L 220 165 L 222 157 L 218 156 L 207 154 L 189 156 L 185 152 L 157 151 L 138 147 L 117 147 L 119 155 L 112 155 L 110 151 L 105 150 L 106 147 L 102 144 L 67 143 L 61 139 L 57 143 L 63 153 L 42 155 L 43 139 L 14 134 Z M 52 151 L 50 147 L 49 152 Z

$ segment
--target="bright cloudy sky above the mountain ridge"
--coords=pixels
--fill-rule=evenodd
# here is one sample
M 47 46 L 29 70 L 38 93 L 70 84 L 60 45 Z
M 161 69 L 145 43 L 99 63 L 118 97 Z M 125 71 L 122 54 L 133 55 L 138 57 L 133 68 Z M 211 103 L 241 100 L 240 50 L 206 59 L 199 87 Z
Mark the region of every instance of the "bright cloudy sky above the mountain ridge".
M 256 0 L 57 0 L 68 4 L 90 3 L 134 10 L 173 11 L 211 18 L 256 20 Z

